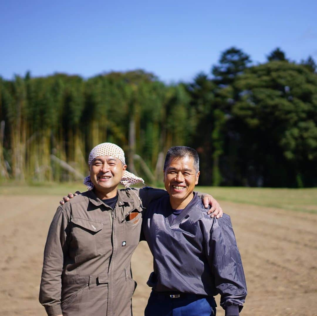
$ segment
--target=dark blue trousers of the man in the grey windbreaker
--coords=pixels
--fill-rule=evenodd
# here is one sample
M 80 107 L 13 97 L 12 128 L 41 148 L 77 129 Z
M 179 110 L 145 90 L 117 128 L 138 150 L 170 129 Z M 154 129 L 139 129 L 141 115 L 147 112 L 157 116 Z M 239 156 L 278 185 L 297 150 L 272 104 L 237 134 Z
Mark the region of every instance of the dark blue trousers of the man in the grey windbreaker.
M 212 296 L 183 293 L 171 298 L 164 293 L 151 293 L 145 316 L 215 316 L 216 302 Z

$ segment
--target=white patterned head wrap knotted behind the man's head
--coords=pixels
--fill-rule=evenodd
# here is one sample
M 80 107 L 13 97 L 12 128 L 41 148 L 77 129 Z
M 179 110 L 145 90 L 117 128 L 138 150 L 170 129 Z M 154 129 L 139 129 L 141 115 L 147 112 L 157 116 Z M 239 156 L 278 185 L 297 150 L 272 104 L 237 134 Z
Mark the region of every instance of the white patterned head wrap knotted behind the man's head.
M 92 149 L 88 157 L 88 164 L 90 166 L 94 158 L 98 156 L 113 156 L 121 160 L 123 164 L 126 164 L 126 159 L 124 158 L 124 151 L 118 145 L 112 143 L 102 143 L 97 145 Z M 131 184 L 144 183 L 142 178 L 137 177 L 129 171 L 123 171 L 120 183 L 126 188 Z M 91 182 L 90 176 L 84 179 L 84 184 L 87 185 L 88 190 L 94 188 L 94 184 Z

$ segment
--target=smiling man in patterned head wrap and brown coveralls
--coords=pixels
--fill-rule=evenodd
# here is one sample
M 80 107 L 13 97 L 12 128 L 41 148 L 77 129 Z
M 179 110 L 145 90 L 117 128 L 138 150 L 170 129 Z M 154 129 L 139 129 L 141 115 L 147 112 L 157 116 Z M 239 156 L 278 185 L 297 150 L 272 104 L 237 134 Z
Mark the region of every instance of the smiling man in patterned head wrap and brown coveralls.
M 50 225 L 39 300 L 50 316 L 132 315 L 131 256 L 142 211 L 167 192 L 129 188 L 144 181 L 126 171 L 115 144 L 94 147 L 88 164 L 88 191 L 60 206 Z

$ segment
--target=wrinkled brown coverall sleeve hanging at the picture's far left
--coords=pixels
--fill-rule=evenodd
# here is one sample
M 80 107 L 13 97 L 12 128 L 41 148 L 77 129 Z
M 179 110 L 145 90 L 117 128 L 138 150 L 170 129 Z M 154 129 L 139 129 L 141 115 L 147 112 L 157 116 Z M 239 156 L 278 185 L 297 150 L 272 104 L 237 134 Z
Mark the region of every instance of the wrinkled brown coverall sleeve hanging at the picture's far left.
M 39 301 L 50 316 L 61 315 L 61 274 L 67 253 L 68 218 L 59 207 L 47 236 Z

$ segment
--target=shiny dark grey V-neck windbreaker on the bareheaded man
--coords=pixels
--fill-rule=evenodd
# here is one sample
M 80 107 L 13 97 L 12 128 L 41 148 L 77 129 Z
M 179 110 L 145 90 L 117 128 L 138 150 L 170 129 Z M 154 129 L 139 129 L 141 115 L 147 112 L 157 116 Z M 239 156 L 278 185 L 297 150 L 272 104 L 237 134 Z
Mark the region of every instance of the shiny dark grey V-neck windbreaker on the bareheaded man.
M 148 285 L 157 292 L 221 295 L 226 315 L 238 315 L 247 294 L 230 216 L 213 219 L 194 198 L 173 221 L 169 196 L 153 201 L 143 219 L 154 257 Z

